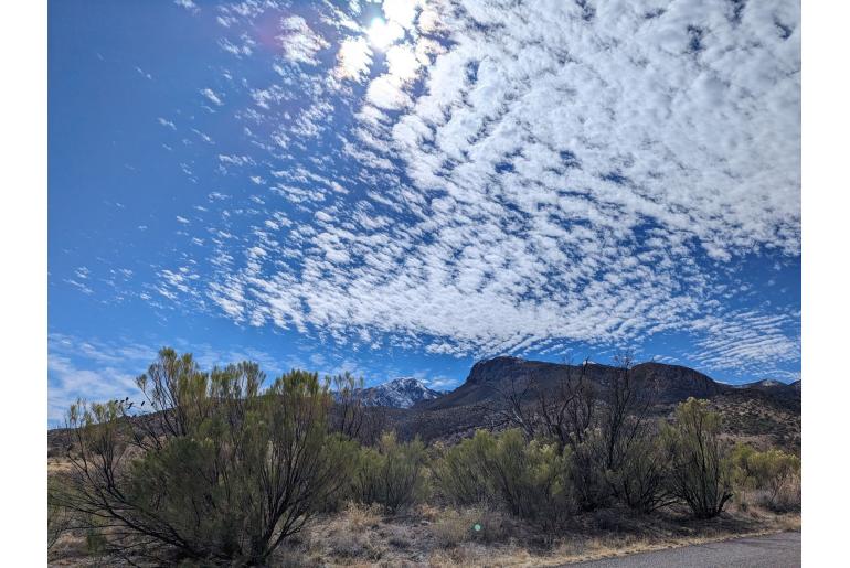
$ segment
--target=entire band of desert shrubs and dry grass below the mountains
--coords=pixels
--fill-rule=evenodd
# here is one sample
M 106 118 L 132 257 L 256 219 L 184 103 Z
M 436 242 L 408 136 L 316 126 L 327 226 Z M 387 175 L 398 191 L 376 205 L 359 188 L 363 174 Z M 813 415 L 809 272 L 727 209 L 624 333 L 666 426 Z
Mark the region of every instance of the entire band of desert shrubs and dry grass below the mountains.
M 635 546 L 676 526 L 756 532 L 767 521 L 753 515 L 799 510 L 794 454 L 733 449 L 704 400 L 651 414 L 651 381 L 634 381 L 627 360 L 604 389 L 575 368 L 548 398 L 514 385 L 502 408 L 519 406 L 501 416 L 521 426 L 426 446 L 375 433 L 386 422 L 351 375 L 293 371 L 264 387 L 256 364 L 202 372 L 163 350 L 138 379 L 148 412 L 128 400 L 71 408 L 65 452 L 51 458 L 62 467 L 49 542 L 54 555 L 76 542 L 105 561 L 291 566 L 425 560 L 426 546 L 439 566 L 476 564 L 475 547 L 580 558 L 594 539 Z M 718 519 L 733 494 L 746 521 Z

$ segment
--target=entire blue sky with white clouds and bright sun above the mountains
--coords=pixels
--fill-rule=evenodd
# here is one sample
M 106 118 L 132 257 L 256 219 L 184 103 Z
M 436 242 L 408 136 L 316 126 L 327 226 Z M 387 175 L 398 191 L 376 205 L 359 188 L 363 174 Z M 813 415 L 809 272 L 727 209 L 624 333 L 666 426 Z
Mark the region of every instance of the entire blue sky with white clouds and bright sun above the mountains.
M 800 378 L 787 0 L 49 4 L 49 416 L 163 345 Z

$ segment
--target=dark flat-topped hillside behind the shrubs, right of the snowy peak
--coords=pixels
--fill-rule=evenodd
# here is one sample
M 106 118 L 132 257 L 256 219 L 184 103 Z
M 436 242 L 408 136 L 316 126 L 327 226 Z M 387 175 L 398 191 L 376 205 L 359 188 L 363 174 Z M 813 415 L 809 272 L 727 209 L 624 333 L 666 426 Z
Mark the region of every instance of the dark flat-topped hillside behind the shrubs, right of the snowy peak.
M 492 427 L 493 417 L 488 409 L 498 404 L 503 393 L 521 392 L 530 383 L 525 398 L 531 404 L 536 393 L 545 396 L 562 378 L 577 379 L 581 371 L 578 365 L 519 357 L 480 361 L 458 388 L 394 414 L 391 422 L 403 438 L 419 436 L 425 441 L 456 441 L 471 436 L 478 428 Z M 617 372 L 618 368 L 610 365 L 588 364 L 585 381 L 602 390 Z M 723 415 L 729 436 L 759 444 L 799 447 L 799 382 L 732 386 L 686 366 L 654 362 L 635 365 L 631 373 L 636 384 L 655 385 L 654 411 L 658 418 L 669 415 L 676 404 L 689 397 L 705 398 Z

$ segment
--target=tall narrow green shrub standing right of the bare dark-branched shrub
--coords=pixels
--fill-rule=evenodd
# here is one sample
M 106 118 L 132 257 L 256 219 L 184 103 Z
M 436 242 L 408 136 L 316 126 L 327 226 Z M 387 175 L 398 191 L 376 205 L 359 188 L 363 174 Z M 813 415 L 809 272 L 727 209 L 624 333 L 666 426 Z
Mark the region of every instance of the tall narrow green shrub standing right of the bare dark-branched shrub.
M 720 415 L 706 400 L 689 398 L 666 425 L 662 443 L 670 461 L 671 495 L 684 502 L 698 518 L 719 515 L 732 497 L 731 460 L 720 440 Z

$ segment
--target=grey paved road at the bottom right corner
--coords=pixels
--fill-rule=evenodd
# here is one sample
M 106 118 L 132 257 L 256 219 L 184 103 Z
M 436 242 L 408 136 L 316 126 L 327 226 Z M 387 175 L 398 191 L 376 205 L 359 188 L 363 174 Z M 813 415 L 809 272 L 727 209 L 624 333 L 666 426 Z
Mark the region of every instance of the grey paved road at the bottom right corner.
M 571 566 L 584 568 L 796 568 L 800 566 L 800 533 L 736 538 L 723 543 L 686 546 Z

